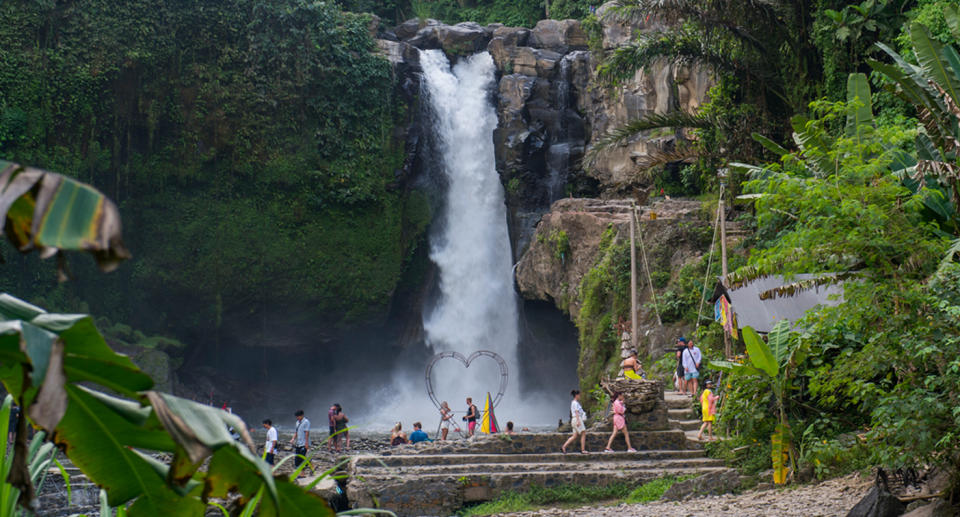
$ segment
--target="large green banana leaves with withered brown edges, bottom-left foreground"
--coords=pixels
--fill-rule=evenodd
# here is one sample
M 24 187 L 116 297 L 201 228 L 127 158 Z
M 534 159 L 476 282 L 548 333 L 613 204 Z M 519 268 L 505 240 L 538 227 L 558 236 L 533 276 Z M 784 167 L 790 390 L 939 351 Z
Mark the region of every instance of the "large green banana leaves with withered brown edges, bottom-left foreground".
M 89 316 L 49 314 L 0 295 L 0 364 L 0 381 L 24 414 L 52 432 L 110 506 L 129 504 L 131 517 L 160 509 L 200 516 L 209 497 L 233 493 L 244 503 L 262 492 L 263 515 L 333 515 L 323 499 L 273 477 L 240 418 L 149 391 L 150 377 L 111 350 Z M 107 388 L 121 396 L 98 391 Z M 235 441 L 228 427 L 243 440 Z M 26 449 L 22 440 L 25 433 L 18 433 L 15 450 Z M 173 453 L 172 465 L 150 452 Z M 207 472 L 199 471 L 208 459 Z M 26 464 L 13 463 L 9 479 L 18 480 L 13 486 L 22 494 L 33 493 L 28 474 Z

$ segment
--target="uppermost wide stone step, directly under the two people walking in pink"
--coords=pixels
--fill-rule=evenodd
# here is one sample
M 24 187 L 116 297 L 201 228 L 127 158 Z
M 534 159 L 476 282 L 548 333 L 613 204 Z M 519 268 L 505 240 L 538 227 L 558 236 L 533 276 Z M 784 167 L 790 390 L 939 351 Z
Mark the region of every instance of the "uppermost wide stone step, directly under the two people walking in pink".
M 682 420 L 682 419 L 681 419 Z M 417 446 L 401 446 L 395 454 L 419 451 L 423 454 L 545 454 L 560 452 L 560 446 L 570 437 L 569 433 L 521 433 L 514 436 L 483 435 L 470 440 L 433 442 Z M 610 438 L 609 432 L 587 432 L 587 450 L 603 450 Z M 618 437 L 615 444 L 623 444 Z M 640 431 L 630 434 L 630 443 L 637 450 L 683 450 L 687 446 L 686 437 L 679 429 L 664 431 Z M 571 448 L 579 447 L 571 445 Z

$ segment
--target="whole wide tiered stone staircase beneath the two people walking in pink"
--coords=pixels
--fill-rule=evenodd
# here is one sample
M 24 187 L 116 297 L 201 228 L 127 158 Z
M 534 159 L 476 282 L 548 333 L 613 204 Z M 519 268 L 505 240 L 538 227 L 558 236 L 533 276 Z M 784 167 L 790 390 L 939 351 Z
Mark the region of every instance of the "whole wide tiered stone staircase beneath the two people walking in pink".
M 506 491 L 533 485 L 606 486 L 641 484 L 664 475 L 725 471 L 720 460 L 706 457 L 684 431 L 631 433 L 638 452 L 603 453 L 608 433 L 588 432 L 587 449 L 579 444 L 566 454 L 566 433 L 478 436 L 468 441 L 403 446 L 387 455 L 358 456 L 348 467 L 347 498 L 353 507 L 379 505 L 400 516 L 450 515 L 464 504 L 491 500 Z

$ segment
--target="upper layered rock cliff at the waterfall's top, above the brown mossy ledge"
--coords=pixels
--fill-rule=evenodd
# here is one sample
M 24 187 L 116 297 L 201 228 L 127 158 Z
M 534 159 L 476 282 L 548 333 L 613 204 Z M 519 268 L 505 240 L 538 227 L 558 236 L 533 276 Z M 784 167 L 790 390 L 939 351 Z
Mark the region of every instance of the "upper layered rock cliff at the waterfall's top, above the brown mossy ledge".
M 498 71 L 497 170 L 507 191 L 511 241 L 514 258 L 519 259 L 554 201 L 567 195 L 645 196 L 648 185 L 634 174 L 635 161 L 654 147 L 672 147 L 682 135 L 638 139 L 584 171 L 580 162 L 591 142 L 645 113 L 677 109 L 692 113 L 704 102 L 709 75 L 669 63 L 642 70 L 617 87 L 597 85 L 598 47 L 612 50 L 638 31 L 653 28 L 605 23 L 602 35 L 594 36 L 591 51 L 590 38 L 577 20 L 542 20 L 532 29 L 409 20 L 381 32 L 377 43 L 408 91 L 418 81 L 418 49 L 441 49 L 451 62 L 482 50 L 493 57 Z

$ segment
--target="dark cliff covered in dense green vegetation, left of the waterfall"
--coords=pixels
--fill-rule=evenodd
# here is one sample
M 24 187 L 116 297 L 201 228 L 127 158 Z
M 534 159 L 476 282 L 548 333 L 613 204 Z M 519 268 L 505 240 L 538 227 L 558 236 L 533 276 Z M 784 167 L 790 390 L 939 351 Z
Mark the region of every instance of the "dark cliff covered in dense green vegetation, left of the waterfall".
M 416 91 L 335 2 L 0 4 L 0 158 L 101 188 L 134 259 L 13 258 L 5 289 L 211 349 L 383 321 L 430 220 Z M 297 329 L 295 332 L 291 329 Z

